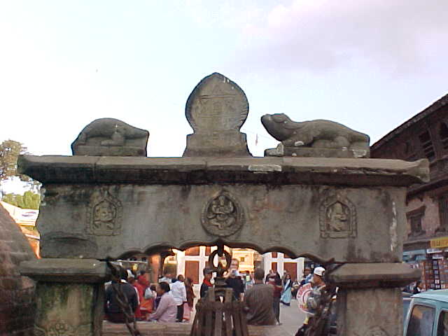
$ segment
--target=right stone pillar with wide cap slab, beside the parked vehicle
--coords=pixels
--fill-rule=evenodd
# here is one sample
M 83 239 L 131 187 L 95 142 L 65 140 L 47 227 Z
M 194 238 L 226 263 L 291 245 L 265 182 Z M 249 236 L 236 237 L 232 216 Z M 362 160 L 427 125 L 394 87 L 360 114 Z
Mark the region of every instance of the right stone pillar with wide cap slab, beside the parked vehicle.
M 337 335 L 398 336 L 403 333 L 401 288 L 420 279 L 402 263 L 345 264 L 330 274 L 337 293 Z

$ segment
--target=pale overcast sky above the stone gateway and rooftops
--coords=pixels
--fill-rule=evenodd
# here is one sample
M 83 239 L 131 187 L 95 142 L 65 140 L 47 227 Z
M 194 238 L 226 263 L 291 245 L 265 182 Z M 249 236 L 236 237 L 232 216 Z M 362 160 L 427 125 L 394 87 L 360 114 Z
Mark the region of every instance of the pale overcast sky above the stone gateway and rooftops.
M 265 113 L 374 143 L 448 93 L 447 18 L 447 0 L 0 0 L 0 141 L 71 155 L 111 117 L 181 156 L 188 94 L 218 71 L 246 92 L 253 155 L 276 146 Z

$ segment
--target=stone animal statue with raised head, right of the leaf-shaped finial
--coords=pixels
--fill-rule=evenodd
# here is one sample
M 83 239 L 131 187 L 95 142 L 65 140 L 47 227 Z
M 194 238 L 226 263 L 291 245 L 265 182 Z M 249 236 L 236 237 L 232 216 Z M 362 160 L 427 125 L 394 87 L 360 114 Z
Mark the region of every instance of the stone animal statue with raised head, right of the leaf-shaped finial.
M 297 123 L 284 113 L 267 114 L 261 123 L 269 134 L 281 141 L 265 156 L 309 156 L 335 158 L 369 158 L 370 138 L 330 120 Z

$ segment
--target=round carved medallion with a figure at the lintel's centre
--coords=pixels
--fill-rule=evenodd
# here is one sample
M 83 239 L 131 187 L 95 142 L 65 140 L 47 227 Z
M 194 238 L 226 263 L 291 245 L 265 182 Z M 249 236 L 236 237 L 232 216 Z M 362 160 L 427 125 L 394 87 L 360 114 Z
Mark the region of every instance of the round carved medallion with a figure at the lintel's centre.
M 211 235 L 233 235 L 244 224 L 244 210 L 239 201 L 225 191 L 212 197 L 202 210 L 202 226 Z

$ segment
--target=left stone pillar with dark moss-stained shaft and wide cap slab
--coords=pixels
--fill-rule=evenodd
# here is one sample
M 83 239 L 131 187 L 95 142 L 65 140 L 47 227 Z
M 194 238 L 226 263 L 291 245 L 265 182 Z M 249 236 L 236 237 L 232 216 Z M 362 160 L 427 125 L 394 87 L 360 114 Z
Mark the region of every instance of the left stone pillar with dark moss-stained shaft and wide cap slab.
M 51 259 L 20 264 L 37 281 L 35 335 L 100 336 L 106 262 Z

